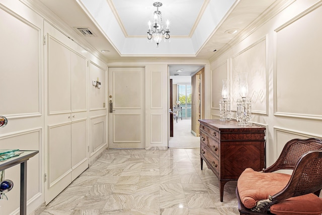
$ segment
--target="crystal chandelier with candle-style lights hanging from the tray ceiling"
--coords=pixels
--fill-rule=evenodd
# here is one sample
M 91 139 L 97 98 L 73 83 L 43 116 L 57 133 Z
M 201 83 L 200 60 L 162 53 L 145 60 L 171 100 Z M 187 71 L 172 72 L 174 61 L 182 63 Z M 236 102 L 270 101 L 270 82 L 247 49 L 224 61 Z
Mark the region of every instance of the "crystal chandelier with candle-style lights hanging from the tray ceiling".
M 155 2 L 153 6 L 156 7 L 156 11 L 153 13 L 153 22 L 148 22 L 149 29 L 147 32 L 147 39 L 152 39 L 156 43 L 156 47 L 159 47 L 159 43 L 161 42 L 163 35 L 165 35 L 165 39 L 170 38 L 170 31 L 169 31 L 169 20 L 167 20 L 167 28 L 164 29 L 163 22 L 162 22 L 162 15 L 159 11 L 159 7 L 162 6 L 162 3 Z M 151 26 L 152 25 L 152 26 Z

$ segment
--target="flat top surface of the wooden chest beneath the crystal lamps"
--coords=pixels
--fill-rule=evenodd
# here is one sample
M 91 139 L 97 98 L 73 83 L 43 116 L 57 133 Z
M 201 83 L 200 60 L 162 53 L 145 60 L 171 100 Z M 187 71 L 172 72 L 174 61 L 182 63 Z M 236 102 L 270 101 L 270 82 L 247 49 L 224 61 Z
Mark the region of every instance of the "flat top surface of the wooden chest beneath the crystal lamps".
M 264 126 L 260 125 L 252 125 L 252 126 L 243 126 L 238 125 L 237 121 L 234 119 L 228 121 L 221 121 L 219 119 L 199 119 L 200 124 L 204 124 L 208 127 L 211 127 L 216 130 L 223 130 L 223 129 L 242 129 L 242 130 L 249 130 L 249 129 L 256 129 L 256 130 L 265 130 Z

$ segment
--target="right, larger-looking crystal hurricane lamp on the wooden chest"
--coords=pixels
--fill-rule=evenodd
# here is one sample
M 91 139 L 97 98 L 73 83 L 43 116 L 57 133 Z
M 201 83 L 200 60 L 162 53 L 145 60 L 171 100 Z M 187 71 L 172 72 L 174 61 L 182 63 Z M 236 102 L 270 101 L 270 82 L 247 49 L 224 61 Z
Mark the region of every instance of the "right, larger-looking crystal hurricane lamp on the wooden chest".
M 252 125 L 252 102 L 246 98 L 248 95 L 247 73 L 238 74 L 239 77 L 239 95 L 241 99 L 237 99 L 236 119 L 238 125 Z

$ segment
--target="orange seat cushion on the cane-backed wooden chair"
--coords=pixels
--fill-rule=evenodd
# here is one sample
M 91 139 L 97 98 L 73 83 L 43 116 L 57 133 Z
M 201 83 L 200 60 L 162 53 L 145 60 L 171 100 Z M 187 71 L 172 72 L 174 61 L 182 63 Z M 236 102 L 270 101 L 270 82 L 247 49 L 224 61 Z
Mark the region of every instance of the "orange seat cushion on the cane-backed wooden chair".
M 290 175 L 283 173 L 262 173 L 247 168 L 238 178 L 237 188 L 241 203 L 252 208 L 256 202 L 267 199 L 281 191 L 288 183 Z M 273 204 L 272 213 L 277 215 L 322 213 L 322 198 L 310 193 L 296 196 Z

